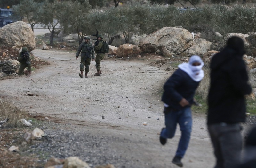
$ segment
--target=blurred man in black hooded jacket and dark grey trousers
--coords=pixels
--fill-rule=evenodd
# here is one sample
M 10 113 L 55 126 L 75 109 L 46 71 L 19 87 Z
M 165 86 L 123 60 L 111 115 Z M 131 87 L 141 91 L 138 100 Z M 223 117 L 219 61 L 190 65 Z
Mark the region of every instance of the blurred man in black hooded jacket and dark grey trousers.
M 243 39 L 233 36 L 210 64 L 207 125 L 217 159 L 215 168 L 233 168 L 241 162 L 239 122 L 245 122 L 244 96 L 252 92 L 244 53 Z

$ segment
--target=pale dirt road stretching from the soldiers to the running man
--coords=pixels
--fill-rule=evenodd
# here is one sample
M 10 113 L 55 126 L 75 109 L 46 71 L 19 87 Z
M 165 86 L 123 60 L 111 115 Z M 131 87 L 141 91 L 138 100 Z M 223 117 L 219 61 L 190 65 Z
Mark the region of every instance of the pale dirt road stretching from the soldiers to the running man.
M 177 167 L 171 161 L 180 138 L 179 129 L 165 146 L 159 143 L 158 135 L 164 127 L 161 89 L 170 76 L 165 70 L 170 64 L 157 67 L 149 65 L 147 59 L 105 59 L 101 64 L 103 74 L 94 77 L 96 68 L 92 61 L 89 78 L 80 78 L 75 52 L 36 49 L 32 53 L 51 65 L 36 69 L 31 77 L 1 80 L 2 97 L 12 99 L 34 115 L 55 117 L 71 125 L 82 124 L 103 137 L 128 139 L 109 145 L 117 155 L 136 163 L 127 167 Z M 28 91 L 34 96 L 28 96 Z M 194 115 L 193 120 L 184 167 L 213 167 L 215 159 L 205 115 Z

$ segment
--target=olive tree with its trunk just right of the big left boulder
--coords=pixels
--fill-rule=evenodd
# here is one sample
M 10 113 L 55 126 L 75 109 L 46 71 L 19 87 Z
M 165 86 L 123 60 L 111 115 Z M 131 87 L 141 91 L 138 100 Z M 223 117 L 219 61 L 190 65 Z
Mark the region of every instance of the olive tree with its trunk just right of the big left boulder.
M 63 12 L 63 3 L 54 2 L 50 3 L 45 1 L 43 10 L 39 16 L 40 23 L 44 28 L 47 28 L 50 32 L 50 46 L 53 45 L 53 36 L 55 33 L 56 26 L 59 25 L 61 13 Z

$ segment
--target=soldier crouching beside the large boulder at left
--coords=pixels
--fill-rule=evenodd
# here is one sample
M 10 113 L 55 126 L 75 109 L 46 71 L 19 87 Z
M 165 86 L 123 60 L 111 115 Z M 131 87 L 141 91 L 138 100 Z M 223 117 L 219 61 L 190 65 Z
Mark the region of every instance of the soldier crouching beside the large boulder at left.
M 31 59 L 27 47 L 22 48 L 21 52 L 18 55 L 18 61 L 20 62 L 18 75 L 22 75 L 23 73 L 25 73 L 26 76 L 31 76 Z M 28 70 L 24 71 L 26 67 L 28 67 Z

